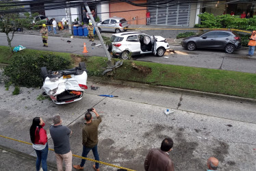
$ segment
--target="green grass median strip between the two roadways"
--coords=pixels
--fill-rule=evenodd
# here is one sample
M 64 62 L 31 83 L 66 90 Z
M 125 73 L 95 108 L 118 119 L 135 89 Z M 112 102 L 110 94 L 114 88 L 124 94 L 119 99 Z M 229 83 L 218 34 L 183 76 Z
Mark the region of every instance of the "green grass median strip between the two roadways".
M 25 49 L 18 53 L 36 54 L 52 52 Z M 14 53 L 14 55 L 18 53 Z M 72 60 L 70 53 L 55 54 Z M 0 62 L 8 64 L 10 57 L 8 47 L 0 47 Z M 256 75 L 252 73 L 126 60 L 123 66 L 116 68 L 106 76 L 102 76 L 101 73 L 106 67 L 106 57 L 81 58 L 86 62 L 89 77 L 105 77 L 149 83 L 156 86 L 169 86 L 172 88 L 256 98 Z

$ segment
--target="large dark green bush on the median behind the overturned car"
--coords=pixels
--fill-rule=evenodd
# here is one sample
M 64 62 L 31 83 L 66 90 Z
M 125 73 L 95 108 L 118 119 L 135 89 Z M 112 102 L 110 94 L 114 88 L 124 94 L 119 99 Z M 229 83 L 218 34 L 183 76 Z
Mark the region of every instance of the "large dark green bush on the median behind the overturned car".
M 68 60 L 53 54 L 17 55 L 11 59 L 10 65 L 4 68 L 3 73 L 15 86 L 35 88 L 42 86 L 42 66 L 46 66 L 48 70 L 63 70 L 70 64 Z

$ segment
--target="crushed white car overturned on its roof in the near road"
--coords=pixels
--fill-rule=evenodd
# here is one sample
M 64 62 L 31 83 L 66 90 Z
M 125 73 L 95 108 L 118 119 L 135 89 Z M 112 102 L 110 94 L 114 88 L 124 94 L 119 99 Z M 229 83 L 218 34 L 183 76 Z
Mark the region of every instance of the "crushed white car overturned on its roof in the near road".
M 46 67 L 42 67 L 41 75 L 44 80 L 44 94 L 50 96 L 57 105 L 81 100 L 84 90 L 87 89 L 84 62 L 80 62 L 79 67 L 69 70 L 48 71 Z

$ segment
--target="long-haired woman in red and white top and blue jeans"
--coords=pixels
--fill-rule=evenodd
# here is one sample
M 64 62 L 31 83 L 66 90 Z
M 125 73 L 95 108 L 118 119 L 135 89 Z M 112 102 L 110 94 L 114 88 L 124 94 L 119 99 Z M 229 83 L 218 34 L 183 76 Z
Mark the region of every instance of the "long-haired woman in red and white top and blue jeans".
M 33 119 L 33 123 L 30 127 L 30 139 L 33 143 L 33 148 L 36 150 L 36 170 L 40 170 L 40 164 L 42 161 L 42 170 L 47 171 L 47 155 L 48 155 L 48 144 L 47 144 L 47 131 L 45 131 L 44 121 L 40 117 Z

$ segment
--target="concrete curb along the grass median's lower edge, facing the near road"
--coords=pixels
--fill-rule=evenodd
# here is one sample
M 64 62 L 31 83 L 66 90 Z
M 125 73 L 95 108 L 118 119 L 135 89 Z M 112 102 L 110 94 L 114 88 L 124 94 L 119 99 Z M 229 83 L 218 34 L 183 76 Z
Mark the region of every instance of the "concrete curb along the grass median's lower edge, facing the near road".
M 185 90 L 181 88 L 170 88 L 166 86 L 153 86 L 149 84 L 144 83 L 138 83 L 138 82 L 132 82 L 132 81 L 121 81 L 121 80 L 115 80 L 115 79 L 104 79 L 104 78 L 97 78 L 97 77 L 90 77 L 88 78 L 89 81 L 94 81 L 96 83 L 104 83 L 104 84 L 110 84 L 110 85 L 122 85 L 132 88 L 146 88 L 151 90 L 157 90 L 157 91 L 166 91 L 166 92 L 173 92 L 173 93 L 181 93 L 181 94 L 189 94 L 192 96 L 201 96 L 201 97 L 211 97 L 216 98 L 219 100 L 228 100 L 228 101 L 236 101 L 240 103 L 253 103 L 256 104 L 256 99 L 253 98 L 243 98 L 238 96 L 229 96 L 225 94 L 214 94 L 210 92 L 199 92 L 196 90 Z

